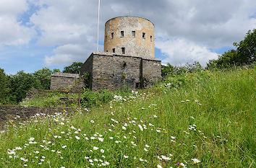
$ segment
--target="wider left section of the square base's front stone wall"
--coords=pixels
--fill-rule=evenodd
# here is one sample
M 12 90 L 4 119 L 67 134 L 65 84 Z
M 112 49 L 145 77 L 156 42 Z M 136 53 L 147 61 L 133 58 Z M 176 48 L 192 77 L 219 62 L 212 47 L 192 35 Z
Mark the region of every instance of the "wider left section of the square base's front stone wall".
M 135 88 L 140 83 L 140 58 L 131 56 L 93 57 L 93 90 Z

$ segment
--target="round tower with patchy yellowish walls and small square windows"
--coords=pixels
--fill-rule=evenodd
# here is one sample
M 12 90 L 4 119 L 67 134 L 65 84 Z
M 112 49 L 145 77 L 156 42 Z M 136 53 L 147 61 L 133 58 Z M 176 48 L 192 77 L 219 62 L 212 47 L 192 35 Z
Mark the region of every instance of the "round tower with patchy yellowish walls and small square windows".
M 115 17 L 105 24 L 104 51 L 155 57 L 154 28 L 152 22 L 141 17 Z

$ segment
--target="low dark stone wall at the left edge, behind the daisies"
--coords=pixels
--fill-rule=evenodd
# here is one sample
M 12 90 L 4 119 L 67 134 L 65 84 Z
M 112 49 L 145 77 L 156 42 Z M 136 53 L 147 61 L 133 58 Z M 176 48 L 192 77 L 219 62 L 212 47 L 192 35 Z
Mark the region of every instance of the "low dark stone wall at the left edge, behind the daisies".
M 17 116 L 21 120 L 25 120 L 37 113 L 54 114 L 55 112 L 71 113 L 76 109 L 65 107 L 34 107 L 34 106 L 15 106 L 15 105 L 0 105 L 0 128 L 4 128 L 7 120 L 14 120 Z

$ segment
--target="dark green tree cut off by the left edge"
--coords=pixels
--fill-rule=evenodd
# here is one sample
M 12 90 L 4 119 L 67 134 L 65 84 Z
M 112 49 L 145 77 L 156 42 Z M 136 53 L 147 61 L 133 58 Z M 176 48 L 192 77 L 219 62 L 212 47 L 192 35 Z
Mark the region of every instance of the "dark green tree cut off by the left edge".
M 0 104 L 7 104 L 9 102 L 9 78 L 4 73 L 4 69 L 0 68 Z

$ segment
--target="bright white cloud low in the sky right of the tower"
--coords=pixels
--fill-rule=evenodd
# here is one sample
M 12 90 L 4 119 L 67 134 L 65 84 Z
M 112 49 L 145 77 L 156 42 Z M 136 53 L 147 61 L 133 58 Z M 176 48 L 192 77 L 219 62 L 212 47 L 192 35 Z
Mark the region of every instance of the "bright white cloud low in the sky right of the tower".
M 205 66 L 210 59 L 218 58 L 217 53 L 185 39 L 156 40 L 155 45 L 166 56 L 162 63 L 171 63 L 171 65 L 183 65 L 198 61 Z

